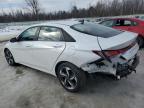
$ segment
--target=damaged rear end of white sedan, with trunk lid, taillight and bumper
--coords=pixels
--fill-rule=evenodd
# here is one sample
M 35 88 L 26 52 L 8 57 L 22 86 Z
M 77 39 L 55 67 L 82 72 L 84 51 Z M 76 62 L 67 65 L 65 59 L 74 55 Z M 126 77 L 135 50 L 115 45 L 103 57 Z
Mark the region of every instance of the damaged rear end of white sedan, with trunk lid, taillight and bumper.
M 122 32 L 108 38 L 98 37 L 97 41 L 101 50 L 93 50 L 92 52 L 100 59 L 87 63 L 81 68 L 89 73 L 112 74 L 118 79 L 136 72 L 136 67 L 139 64 L 139 56 L 137 55 L 139 46 L 136 37 L 137 34 L 131 32 Z

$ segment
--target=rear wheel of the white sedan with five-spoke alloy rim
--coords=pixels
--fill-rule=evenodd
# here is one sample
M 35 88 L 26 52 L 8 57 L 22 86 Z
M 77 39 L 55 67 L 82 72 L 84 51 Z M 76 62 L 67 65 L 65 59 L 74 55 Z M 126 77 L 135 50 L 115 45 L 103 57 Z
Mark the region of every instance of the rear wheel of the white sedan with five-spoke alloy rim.
M 57 70 L 57 77 L 69 92 L 77 92 L 86 84 L 85 72 L 71 63 L 61 64 Z

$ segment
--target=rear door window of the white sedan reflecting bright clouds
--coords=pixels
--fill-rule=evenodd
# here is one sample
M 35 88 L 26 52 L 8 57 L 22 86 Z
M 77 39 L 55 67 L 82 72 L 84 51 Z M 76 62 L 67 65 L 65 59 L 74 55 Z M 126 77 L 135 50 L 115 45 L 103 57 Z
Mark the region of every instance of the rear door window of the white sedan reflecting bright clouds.
M 41 27 L 39 41 L 62 41 L 61 29 L 55 27 Z

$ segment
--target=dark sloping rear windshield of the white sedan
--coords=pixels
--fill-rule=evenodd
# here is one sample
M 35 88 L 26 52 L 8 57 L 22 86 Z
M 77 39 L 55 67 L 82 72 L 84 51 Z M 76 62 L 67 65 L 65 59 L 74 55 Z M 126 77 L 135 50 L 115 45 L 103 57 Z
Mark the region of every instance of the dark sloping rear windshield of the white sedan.
M 85 22 L 84 24 L 76 24 L 71 26 L 71 28 L 81 33 L 103 38 L 113 37 L 122 33 L 122 31 L 91 22 Z

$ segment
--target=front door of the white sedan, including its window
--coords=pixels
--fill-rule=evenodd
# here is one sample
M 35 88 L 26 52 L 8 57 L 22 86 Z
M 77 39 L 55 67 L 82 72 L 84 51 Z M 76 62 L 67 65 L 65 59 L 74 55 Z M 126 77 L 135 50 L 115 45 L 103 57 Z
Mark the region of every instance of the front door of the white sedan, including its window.
M 12 53 L 16 62 L 31 65 L 33 57 L 30 55 L 33 50 L 32 44 L 38 39 L 39 27 L 31 27 L 25 30 L 18 37 L 18 42 L 12 43 Z

